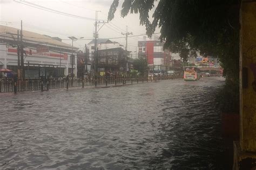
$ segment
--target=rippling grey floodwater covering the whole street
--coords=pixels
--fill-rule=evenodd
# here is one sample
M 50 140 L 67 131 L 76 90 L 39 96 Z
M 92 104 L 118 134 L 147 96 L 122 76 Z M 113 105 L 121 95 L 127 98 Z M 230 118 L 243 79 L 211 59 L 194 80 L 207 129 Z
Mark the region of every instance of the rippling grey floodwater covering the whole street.
M 223 78 L 0 96 L 0 169 L 222 169 Z

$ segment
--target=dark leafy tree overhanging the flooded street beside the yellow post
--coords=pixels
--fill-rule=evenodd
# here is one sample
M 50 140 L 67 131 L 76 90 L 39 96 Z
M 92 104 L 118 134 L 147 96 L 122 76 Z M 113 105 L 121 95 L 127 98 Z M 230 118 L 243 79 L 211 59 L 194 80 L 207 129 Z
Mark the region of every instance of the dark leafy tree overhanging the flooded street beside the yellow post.
M 178 52 L 184 62 L 197 52 L 215 56 L 226 76 L 239 79 L 239 0 L 159 0 L 150 22 L 155 4 L 156 0 L 125 0 L 121 16 L 139 13 L 147 35 L 151 37 L 159 26 L 165 49 Z M 113 0 L 109 21 L 118 5 L 119 0 Z

